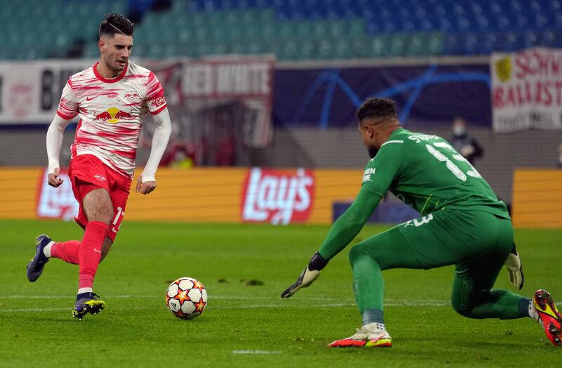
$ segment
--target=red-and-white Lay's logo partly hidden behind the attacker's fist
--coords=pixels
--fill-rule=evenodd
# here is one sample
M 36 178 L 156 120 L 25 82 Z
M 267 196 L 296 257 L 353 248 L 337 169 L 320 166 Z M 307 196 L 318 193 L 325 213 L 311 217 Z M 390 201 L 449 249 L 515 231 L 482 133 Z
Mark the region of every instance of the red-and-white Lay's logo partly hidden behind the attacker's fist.
M 78 216 L 78 202 L 74 198 L 67 171 L 61 171 L 58 177 L 64 180 L 63 184 L 53 188 L 48 185 L 48 170 L 44 170 L 37 196 L 37 217 L 70 221 Z

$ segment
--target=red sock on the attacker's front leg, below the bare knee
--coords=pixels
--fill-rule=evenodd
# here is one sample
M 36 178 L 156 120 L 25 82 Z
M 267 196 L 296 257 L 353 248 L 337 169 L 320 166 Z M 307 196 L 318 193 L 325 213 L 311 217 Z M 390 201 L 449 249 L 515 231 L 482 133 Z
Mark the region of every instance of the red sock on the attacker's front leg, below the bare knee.
M 96 276 L 98 265 L 101 258 L 101 247 L 103 240 L 107 236 L 106 223 L 91 221 L 86 225 L 84 237 L 79 249 L 79 282 L 78 288 L 91 288 L 93 277 Z

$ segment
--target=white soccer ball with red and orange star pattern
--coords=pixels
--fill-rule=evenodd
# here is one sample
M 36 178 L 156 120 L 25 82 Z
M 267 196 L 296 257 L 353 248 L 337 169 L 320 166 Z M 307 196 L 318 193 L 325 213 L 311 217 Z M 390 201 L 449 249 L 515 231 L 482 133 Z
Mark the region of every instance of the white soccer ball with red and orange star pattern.
M 191 277 L 181 277 L 172 282 L 166 291 L 166 306 L 183 320 L 199 317 L 207 305 L 207 290 Z

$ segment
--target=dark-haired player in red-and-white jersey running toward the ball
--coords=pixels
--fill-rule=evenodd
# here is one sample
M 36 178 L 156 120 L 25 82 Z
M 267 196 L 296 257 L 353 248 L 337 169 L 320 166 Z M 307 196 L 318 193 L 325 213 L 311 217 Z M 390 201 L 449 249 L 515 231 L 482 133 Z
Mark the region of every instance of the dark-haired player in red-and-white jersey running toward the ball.
M 105 302 L 93 293 L 93 279 L 125 215 L 146 113 L 152 114 L 157 129 L 148 162 L 136 180 L 136 192 L 148 195 L 155 190 L 156 169 L 171 132 L 162 85 L 150 70 L 129 60 L 133 23 L 110 13 L 99 32 L 99 62 L 68 79 L 46 137 L 48 184 L 57 188 L 63 183 L 58 177 L 63 134 L 70 120 L 79 115 L 68 175 L 80 205 L 76 221 L 84 228 L 84 237 L 53 242 L 47 235 L 39 235 L 35 255 L 27 265 L 30 282 L 39 278 L 51 257 L 79 265 L 72 310 L 79 319 L 105 308 Z

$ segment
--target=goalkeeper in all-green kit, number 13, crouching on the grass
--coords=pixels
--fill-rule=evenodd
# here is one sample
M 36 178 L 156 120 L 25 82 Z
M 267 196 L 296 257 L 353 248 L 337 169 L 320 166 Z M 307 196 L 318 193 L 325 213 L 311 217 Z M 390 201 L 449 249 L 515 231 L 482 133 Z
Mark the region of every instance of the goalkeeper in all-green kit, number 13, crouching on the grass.
M 470 318 L 531 317 L 562 345 L 562 316 L 547 291 L 532 299 L 492 289 L 502 266 L 518 289 L 521 260 L 504 202 L 446 140 L 400 126 L 393 100 L 370 98 L 356 112 L 370 161 L 350 208 L 334 223 L 299 279 L 282 297 L 308 287 L 328 261 L 358 234 L 387 190 L 421 216 L 370 237 L 349 253 L 362 327 L 328 347 L 391 346 L 383 318 L 382 270 L 455 265 L 451 303 Z

